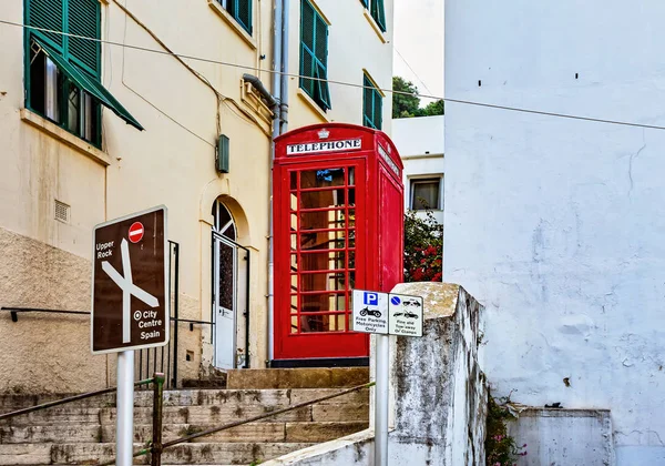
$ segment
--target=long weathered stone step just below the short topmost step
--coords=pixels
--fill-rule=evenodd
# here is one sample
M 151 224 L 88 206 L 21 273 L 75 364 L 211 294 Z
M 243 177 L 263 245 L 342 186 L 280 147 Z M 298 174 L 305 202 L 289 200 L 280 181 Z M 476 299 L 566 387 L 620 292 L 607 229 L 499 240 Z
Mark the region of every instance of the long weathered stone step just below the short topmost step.
M 246 371 L 245 371 L 246 372 Z M 164 392 L 164 406 L 206 406 L 227 403 L 269 403 L 288 404 L 289 401 L 300 403 L 317 397 L 339 392 L 342 388 L 294 388 L 294 389 L 180 389 Z M 39 404 L 62 399 L 64 395 L 2 395 L 0 396 L 0 412 L 9 413 Z M 297 401 L 295 401 L 297 399 Z M 351 393 L 335 398 L 337 402 L 357 403 L 369 399 L 369 389 Z M 151 407 L 153 405 L 152 392 L 135 392 L 134 406 Z M 79 402 L 61 405 L 66 407 L 114 407 L 115 395 L 102 395 Z

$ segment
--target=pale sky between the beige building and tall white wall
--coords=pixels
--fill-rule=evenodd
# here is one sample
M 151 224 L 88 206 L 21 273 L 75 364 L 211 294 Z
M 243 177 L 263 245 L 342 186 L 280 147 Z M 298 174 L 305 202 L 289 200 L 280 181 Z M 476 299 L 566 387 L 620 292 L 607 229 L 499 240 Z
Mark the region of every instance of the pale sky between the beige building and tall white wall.
M 443 0 L 395 0 L 393 45 L 393 74 L 443 97 Z

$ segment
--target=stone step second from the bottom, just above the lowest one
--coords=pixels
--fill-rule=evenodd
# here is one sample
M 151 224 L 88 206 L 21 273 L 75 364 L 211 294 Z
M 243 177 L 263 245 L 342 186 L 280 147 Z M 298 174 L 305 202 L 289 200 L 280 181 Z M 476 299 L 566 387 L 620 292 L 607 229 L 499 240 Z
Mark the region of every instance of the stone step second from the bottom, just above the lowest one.
M 366 429 L 368 422 L 323 422 L 323 423 L 250 423 L 222 430 L 194 443 L 319 443 L 350 435 Z M 163 442 L 185 437 L 216 427 L 215 425 L 173 424 L 162 429 Z M 152 439 L 152 425 L 134 426 L 134 442 L 144 444 Z M 2 426 L 0 444 L 71 444 L 113 443 L 115 426 L 104 425 L 52 425 L 52 426 Z

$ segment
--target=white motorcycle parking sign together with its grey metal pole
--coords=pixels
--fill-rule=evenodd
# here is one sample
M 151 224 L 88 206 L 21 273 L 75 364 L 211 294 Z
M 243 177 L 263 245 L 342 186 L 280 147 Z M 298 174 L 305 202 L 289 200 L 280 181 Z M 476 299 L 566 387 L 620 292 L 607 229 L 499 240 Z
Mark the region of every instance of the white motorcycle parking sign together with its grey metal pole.
M 354 290 L 351 328 L 377 335 L 375 466 L 387 466 L 389 335 L 422 336 L 422 297 Z

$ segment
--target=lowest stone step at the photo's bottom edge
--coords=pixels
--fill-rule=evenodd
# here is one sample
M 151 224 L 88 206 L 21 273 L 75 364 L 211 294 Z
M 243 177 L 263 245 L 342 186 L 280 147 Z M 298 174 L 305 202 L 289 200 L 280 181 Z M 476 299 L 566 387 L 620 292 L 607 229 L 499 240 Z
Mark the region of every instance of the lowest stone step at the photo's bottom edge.
M 171 465 L 247 465 L 265 462 L 310 443 L 200 443 L 167 448 L 162 462 Z M 134 449 L 143 448 L 134 444 Z M 114 444 L 20 444 L 0 445 L 0 466 L 99 464 L 114 458 Z M 149 456 L 134 458 L 135 465 L 150 464 Z

